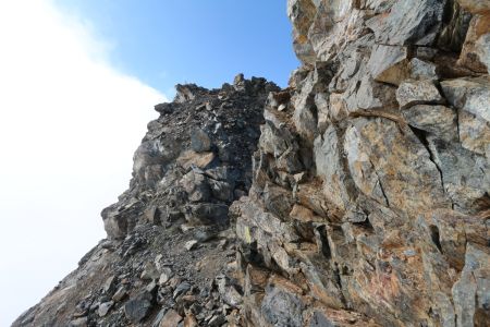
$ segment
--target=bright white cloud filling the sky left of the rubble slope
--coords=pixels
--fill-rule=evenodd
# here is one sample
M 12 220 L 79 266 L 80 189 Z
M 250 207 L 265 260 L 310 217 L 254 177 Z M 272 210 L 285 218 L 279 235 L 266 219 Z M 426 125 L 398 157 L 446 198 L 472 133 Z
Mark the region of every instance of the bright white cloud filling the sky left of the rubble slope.
M 105 237 L 163 95 L 108 63 L 108 46 L 49 1 L 0 2 L 0 325 Z

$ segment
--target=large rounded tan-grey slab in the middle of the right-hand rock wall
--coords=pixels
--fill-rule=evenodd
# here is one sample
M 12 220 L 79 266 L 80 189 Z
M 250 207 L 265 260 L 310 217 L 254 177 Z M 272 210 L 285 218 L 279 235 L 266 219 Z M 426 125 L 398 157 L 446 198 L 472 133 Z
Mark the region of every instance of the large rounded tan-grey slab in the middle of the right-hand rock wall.
M 438 167 L 415 135 L 406 138 L 394 122 L 382 119 L 358 119 L 345 134 L 350 174 L 365 195 L 406 213 L 449 206 Z M 391 154 L 396 154 L 393 160 L 385 160 Z M 399 170 L 403 179 L 390 173 Z

